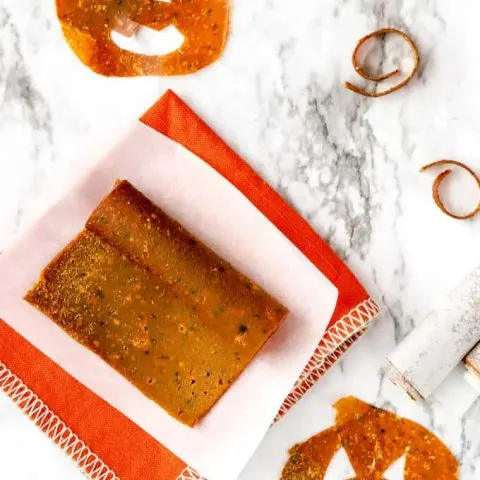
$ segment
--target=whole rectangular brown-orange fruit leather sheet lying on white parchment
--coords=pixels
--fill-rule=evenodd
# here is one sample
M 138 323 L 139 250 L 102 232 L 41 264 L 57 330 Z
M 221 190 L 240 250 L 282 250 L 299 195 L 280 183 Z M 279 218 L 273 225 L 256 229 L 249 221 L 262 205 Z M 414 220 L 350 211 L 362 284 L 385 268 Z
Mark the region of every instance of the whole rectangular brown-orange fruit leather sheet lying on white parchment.
M 127 181 L 25 299 L 189 426 L 287 314 Z

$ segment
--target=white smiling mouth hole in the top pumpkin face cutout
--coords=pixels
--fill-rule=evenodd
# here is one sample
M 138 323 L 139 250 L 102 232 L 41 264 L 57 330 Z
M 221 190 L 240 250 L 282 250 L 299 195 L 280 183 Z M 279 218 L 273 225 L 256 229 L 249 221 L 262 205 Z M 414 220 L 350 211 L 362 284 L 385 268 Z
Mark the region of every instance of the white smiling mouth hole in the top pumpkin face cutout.
M 184 36 L 174 25 L 160 31 L 140 25 L 131 36 L 115 31 L 112 31 L 111 36 L 120 48 L 143 55 L 166 55 L 180 48 L 184 41 Z

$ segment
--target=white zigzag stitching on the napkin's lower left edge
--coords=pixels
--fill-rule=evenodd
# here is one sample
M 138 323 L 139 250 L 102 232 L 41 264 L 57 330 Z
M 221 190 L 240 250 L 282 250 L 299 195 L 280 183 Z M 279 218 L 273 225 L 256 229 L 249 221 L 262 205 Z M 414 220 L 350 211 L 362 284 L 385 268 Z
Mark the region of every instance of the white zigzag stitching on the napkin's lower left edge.
M 119 480 L 115 472 L 1 361 L 0 390 L 56 443 L 88 478 Z

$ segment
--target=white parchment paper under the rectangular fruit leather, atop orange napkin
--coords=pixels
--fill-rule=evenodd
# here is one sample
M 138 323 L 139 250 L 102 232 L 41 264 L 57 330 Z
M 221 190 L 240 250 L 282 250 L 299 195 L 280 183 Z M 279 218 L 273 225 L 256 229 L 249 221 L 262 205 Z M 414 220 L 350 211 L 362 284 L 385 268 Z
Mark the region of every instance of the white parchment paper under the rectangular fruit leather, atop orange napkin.
M 23 300 L 117 178 L 132 182 L 291 312 L 193 429 Z M 140 122 L 0 256 L 0 317 L 209 480 L 237 478 L 312 355 L 337 296 L 336 287 L 229 182 Z

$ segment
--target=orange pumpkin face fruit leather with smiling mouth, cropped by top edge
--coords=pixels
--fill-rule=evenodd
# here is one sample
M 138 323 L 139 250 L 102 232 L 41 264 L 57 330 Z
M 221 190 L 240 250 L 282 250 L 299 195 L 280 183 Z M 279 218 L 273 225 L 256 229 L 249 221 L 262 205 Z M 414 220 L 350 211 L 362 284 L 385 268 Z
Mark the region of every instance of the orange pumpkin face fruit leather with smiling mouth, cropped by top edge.
M 67 42 L 78 58 L 106 76 L 183 75 L 221 55 L 229 29 L 229 0 L 57 0 Z M 184 36 L 167 55 L 120 48 L 112 31 L 131 35 L 138 26 L 160 31 L 173 25 Z

